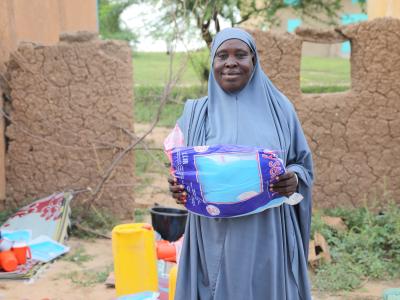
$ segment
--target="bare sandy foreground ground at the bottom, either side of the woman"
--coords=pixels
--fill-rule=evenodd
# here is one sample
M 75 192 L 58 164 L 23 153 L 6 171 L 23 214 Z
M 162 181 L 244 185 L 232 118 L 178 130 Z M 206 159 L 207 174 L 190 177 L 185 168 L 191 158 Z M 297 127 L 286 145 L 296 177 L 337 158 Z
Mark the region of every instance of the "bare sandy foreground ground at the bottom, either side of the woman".
M 44 269 L 31 282 L 0 281 L 1 300 L 112 300 L 115 290 L 103 283 L 112 266 L 111 241 L 104 239 L 79 240 L 72 238 L 67 244 L 71 252 Z M 90 255 L 87 262 L 78 263 L 78 249 Z M 79 251 L 79 250 L 78 250 Z M 82 254 L 81 254 L 82 255 Z M 330 295 L 313 292 L 314 300 L 375 300 L 382 299 L 385 289 L 400 287 L 397 281 L 369 281 L 358 291 Z

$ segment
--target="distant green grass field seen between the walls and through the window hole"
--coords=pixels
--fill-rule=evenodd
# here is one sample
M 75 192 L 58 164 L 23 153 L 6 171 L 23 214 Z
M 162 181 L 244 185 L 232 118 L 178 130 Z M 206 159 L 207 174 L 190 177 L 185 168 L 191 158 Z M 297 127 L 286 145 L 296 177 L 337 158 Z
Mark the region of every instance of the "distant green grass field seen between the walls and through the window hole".
M 189 54 L 176 53 L 174 72 L 186 60 L 185 72 L 166 103 L 159 126 L 173 127 L 182 113 L 186 99 L 207 94 L 201 82 L 199 69 L 208 65 L 206 50 Z M 170 56 L 166 53 L 136 52 L 133 56 L 135 122 L 152 123 L 167 81 Z M 301 89 L 303 93 L 335 93 L 350 87 L 350 62 L 343 58 L 303 57 L 301 63 Z

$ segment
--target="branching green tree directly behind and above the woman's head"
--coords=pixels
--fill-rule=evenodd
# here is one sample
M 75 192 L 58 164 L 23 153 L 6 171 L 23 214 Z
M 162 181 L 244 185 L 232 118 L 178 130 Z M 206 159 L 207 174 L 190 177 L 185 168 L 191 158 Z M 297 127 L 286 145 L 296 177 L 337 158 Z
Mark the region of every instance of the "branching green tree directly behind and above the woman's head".
M 150 0 L 155 1 L 155 0 Z M 213 34 L 220 31 L 221 19 L 229 20 L 232 27 L 250 18 L 259 17 L 260 25 L 277 24 L 277 12 L 290 9 L 303 18 L 312 18 L 325 24 L 335 24 L 342 0 L 161 0 L 167 12 L 159 28 L 175 20 L 187 20 L 201 31 L 201 37 L 210 48 Z

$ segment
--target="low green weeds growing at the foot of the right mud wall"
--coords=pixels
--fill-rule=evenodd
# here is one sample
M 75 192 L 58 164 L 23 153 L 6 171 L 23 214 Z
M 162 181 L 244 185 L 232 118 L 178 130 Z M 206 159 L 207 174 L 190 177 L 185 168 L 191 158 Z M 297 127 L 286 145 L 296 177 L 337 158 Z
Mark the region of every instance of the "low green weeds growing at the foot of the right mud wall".
M 374 212 L 377 211 L 377 212 Z M 400 277 L 400 207 L 336 208 L 325 212 L 341 217 L 347 231 L 336 231 L 314 214 L 312 232 L 327 240 L 332 263 L 322 264 L 313 276 L 314 286 L 323 291 L 350 291 L 372 279 Z

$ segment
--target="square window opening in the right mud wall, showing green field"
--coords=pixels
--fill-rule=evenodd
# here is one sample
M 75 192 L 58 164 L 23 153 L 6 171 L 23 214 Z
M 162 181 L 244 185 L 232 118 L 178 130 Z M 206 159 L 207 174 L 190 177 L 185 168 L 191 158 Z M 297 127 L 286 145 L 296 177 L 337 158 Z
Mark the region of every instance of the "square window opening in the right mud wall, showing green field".
M 303 93 L 336 93 L 350 89 L 350 51 L 342 44 L 303 43 L 300 86 Z

